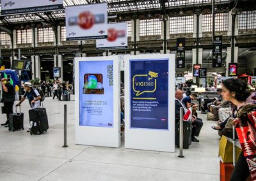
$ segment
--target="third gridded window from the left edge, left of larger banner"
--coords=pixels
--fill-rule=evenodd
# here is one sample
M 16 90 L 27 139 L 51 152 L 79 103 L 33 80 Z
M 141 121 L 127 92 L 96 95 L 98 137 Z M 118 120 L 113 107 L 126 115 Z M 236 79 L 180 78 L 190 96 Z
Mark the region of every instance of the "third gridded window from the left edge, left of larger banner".
M 38 29 L 38 43 L 54 42 L 55 36 L 52 27 Z

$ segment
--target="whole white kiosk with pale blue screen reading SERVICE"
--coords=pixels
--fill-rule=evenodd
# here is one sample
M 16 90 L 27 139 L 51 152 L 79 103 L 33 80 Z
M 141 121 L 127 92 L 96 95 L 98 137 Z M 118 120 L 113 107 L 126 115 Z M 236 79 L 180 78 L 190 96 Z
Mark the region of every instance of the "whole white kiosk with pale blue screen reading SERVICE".
M 120 147 L 118 57 L 75 58 L 76 144 Z

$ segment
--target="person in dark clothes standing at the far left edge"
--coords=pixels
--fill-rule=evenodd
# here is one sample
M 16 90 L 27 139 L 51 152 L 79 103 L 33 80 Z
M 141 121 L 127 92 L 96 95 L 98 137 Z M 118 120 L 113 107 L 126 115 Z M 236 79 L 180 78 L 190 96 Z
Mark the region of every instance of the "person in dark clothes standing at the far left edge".
M 2 78 L 1 82 L 3 86 L 2 102 L 4 103 L 4 113 L 6 113 L 6 117 L 7 117 L 6 122 L 4 124 L 1 124 L 1 126 L 8 127 L 9 115 L 13 113 L 13 104 L 15 101 L 15 90 L 7 78 Z

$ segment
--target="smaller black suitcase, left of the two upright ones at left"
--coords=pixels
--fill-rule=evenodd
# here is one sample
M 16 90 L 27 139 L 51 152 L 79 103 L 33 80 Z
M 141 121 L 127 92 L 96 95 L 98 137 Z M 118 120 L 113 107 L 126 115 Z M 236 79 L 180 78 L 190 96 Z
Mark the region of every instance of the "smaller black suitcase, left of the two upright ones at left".
M 20 108 L 20 106 L 19 106 Z M 9 131 L 18 131 L 20 129 L 24 130 L 24 113 L 17 113 L 17 106 L 16 112 L 9 115 Z

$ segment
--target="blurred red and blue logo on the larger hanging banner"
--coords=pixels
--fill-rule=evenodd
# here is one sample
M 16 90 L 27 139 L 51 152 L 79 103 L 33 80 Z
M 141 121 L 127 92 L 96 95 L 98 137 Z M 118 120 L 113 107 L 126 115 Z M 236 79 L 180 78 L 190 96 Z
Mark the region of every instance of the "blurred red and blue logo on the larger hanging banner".
M 82 29 L 90 29 L 95 24 L 103 24 L 105 22 L 105 15 L 93 15 L 90 11 L 80 13 L 78 17 L 70 17 L 68 25 L 79 25 Z

